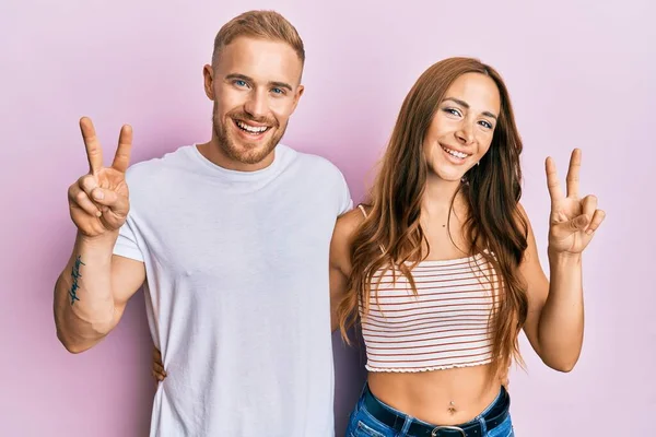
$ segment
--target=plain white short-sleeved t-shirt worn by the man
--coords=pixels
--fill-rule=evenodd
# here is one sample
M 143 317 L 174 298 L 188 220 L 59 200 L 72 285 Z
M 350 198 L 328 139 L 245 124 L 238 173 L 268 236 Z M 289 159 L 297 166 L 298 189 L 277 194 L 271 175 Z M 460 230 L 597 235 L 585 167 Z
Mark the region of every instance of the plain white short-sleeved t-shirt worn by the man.
M 166 379 L 151 437 L 333 435 L 329 245 L 352 201 L 319 156 L 233 172 L 195 145 L 130 167 L 114 252 L 143 261 Z

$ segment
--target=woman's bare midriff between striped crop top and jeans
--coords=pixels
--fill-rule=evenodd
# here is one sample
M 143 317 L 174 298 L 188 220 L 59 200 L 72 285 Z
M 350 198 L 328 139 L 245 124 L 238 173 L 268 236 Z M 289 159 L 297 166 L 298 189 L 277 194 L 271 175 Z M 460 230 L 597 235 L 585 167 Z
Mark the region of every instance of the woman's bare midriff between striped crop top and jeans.
M 372 393 L 387 405 L 434 425 L 457 425 L 494 401 L 501 379 L 489 380 L 489 366 L 419 373 L 370 371 Z

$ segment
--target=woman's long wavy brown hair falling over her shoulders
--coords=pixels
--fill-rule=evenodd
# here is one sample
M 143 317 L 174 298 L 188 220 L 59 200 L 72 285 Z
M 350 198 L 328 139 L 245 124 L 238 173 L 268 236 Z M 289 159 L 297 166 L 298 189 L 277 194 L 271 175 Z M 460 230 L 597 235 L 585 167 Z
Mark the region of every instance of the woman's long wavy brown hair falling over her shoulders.
M 528 228 L 518 213 L 522 140 L 508 92 L 500 74 L 477 59 L 449 58 L 433 64 L 403 101 L 367 202 L 368 216 L 351 241 L 349 292 L 337 314 L 342 338 L 349 342 L 347 331 L 355 324 L 360 306 L 366 317 L 372 284 L 382 269 L 390 269 L 395 274 L 399 271 L 417 293 L 410 272 L 429 255 L 420 224 L 429 172 L 422 143 L 447 88 L 461 74 L 472 72 L 490 76 L 501 95 L 501 114 L 490 150 L 480 165 L 467 172 L 466 182 L 460 186 L 469 209 L 464 231 L 470 255 L 483 256 L 500 279 L 496 285 L 492 284 L 497 291 L 493 293 L 496 311 L 490 318 L 490 374 L 495 375 L 507 368 L 513 358 L 523 363 L 517 336 L 528 305 L 518 265 L 527 247 Z

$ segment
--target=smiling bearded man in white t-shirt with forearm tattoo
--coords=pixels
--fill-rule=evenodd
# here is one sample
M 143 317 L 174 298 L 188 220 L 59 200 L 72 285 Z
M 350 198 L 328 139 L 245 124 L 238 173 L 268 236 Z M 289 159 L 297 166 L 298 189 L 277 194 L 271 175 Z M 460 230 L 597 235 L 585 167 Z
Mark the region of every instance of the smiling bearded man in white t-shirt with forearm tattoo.
M 56 285 L 58 336 L 92 347 L 144 285 L 167 369 L 151 436 L 333 434 L 328 255 L 352 202 L 333 165 L 279 144 L 304 59 L 285 19 L 246 12 L 203 69 L 208 143 L 128 170 L 125 126 L 104 167 L 80 121 L 90 173 L 69 189 L 78 236 Z

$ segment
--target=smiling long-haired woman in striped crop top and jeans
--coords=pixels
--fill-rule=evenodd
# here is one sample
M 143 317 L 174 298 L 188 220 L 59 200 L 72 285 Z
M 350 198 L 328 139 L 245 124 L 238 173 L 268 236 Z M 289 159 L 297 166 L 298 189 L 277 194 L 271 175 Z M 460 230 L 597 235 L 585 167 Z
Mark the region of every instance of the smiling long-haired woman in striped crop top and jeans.
M 551 158 L 550 280 L 519 204 L 522 141 L 501 76 L 475 59 L 435 63 L 406 97 L 367 204 L 331 244 L 335 319 L 358 320 L 367 383 L 348 436 L 512 436 L 501 385 L 524 329 L 551 368 L 583 342 L 581 252 L 604 220 L 566 196 Z

